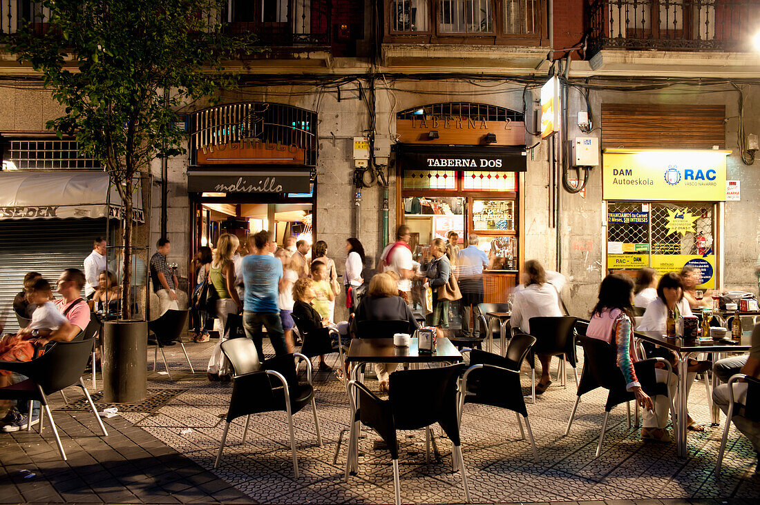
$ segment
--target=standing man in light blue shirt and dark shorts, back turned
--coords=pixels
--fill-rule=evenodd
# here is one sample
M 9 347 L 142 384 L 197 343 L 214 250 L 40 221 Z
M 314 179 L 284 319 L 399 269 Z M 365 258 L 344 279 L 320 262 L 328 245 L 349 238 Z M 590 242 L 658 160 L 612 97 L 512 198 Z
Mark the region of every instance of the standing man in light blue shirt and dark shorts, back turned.
M 477 247 L 478 240 L 477 235 L 470 233 L 467 248 L 459 251 L 457 279 L 462 292 L 462 334 L 476 339 L 480 336 L 480 309 L 477 306 L 483 303 L 483 268 L 488 268 L 488 255 Z

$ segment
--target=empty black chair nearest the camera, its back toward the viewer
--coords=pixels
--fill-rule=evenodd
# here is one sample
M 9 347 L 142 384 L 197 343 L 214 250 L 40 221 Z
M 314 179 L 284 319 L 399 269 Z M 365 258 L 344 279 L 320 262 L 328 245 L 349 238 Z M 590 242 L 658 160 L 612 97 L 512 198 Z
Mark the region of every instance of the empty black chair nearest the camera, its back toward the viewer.
M 401 503 L 401 484 L 398 475 L 398 442 L 396 430 L 429 429 L 436 422 L 453 445 L 452 455 L 458 466 L 467 503 L 470 503 L 470 489 L 467 487 L 467 474 L 464 471 L 461 440 L 459 437 L 459 416 L 457 408 L 457 383 L 464 372 L 465 365 L 451 365 L 442 368 L 397 371 L 391 374 L 388 399 L 375 396 L 363 383 L 352 380 L 349 389 L 356 390 L 356 397 L 349 395 L 352 405 L 351 437 L 349 459 L 346 463 L 346 481 L 348 481 L 351 453 L 356 454 L 359 438 L 357 422 L 377 432 L 391 452 L 393 460 L 393 484 L 396 504 Z M 356 403 L 358 402 L 358 406 Z M 428 431 L 429 434 L 429 431 Z

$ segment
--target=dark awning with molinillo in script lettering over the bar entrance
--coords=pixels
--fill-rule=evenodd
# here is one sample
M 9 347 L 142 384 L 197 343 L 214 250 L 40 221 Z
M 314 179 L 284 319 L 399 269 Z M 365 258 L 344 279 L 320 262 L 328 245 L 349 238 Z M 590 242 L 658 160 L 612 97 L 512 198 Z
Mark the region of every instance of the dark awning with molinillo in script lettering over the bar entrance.
M 311 170 L 190 169 L 188 191 L 197 193 L 309 193 Z

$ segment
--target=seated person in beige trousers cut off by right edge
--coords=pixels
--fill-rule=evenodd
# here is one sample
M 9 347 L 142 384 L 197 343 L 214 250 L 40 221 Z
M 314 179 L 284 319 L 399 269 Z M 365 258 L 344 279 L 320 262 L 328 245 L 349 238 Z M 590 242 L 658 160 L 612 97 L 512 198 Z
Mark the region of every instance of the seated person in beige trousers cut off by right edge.
M 760 324 L 755 325 L 755 330 L 752 330 L 752 347 L 749 349 L 749 355 L 744 356 L 743 358 L 745 359 L 743 367 L 739 371 L 734 371 L 739 374 L 760 378 Z M 737 358 L 727 358 L 727 360 L 736 359 Z M 730 375 L 726 376 L 727 371 L 730 369 L 730 366 L 724 363 L 724 361 L 727 360 L 717 361 L 714 365 L 716 373 L 719 374 L 721 379 L 725 380 L 730 379 Z M 733 384 L 733 398 L 739 403 L 746 402 L 746 383 L 737 382 Z M 728 412 L 728 404 L 730 402 L 728 384 L 721 384 L 713 390 L 713 401 L 720 407 L 724 414 Z M 726 420 L 726 422 L 730 421 L 732 420 Z M 748 419 L 737 415 L 733 418 L 733 425 L 736 426 L 736 429 L 741 431 L 745 437 L 749 438 L 749 441 L 752 442 L 752 446 L 755 447 L 755 451 L 760 455 L 760 423 L 749 421 Z

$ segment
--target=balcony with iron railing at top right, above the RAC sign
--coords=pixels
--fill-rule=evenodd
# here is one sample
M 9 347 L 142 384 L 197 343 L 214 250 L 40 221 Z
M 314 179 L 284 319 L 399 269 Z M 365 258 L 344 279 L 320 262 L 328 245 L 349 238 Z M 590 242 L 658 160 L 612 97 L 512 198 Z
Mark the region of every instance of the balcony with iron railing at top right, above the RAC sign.
M 749 51 L 757 0 L 593 0 L 591 54 L 600 49 Z

